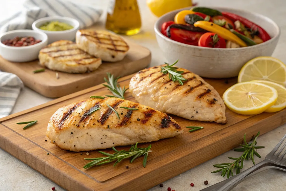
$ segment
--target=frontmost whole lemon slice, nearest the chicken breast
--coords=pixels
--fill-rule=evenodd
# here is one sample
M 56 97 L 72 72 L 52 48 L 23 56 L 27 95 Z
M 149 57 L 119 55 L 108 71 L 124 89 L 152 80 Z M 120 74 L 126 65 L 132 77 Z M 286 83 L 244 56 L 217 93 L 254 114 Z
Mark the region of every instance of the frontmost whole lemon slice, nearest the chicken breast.
M 223 94 L 225 105 L 235 113 L 255 115 L 262 113 L 277 101 L 277 90 L 257 82 L 234 84 Z

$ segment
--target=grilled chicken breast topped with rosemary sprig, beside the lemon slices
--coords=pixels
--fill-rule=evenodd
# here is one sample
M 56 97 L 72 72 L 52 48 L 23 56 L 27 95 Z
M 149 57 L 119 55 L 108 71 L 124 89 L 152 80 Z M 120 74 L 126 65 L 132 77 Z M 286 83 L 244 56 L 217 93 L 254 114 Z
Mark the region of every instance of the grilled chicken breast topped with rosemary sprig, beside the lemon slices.
M 200 76 L 178 68 L 187 79 L 180 85 L 160 70 L 157 66 L 144 69 L 130 80 L 130 92 L 140 104 L 190 120 L 227 122 L 219 93 Z

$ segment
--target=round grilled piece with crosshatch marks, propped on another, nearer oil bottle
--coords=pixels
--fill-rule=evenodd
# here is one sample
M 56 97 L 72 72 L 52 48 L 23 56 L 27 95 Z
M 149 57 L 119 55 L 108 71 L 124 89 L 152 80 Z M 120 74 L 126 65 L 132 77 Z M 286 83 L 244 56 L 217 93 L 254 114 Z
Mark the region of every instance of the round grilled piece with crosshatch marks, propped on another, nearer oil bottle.
M 120 36 L 103 30 L 78 30 L 76 44 L 88 54 L 107 62 L 122 60 L 129 50 L 128 44 Z

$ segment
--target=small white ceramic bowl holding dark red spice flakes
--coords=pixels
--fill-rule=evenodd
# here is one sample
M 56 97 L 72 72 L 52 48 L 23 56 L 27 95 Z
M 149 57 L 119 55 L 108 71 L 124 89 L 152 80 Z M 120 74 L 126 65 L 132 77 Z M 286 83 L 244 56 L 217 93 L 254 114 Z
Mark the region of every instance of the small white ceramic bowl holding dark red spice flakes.
M 13 39 L 15 37 L 25 37 L 32 36 L 36 40 L 42 40 L 34 45 L 30 46 L 7 46 L 1 42 L 7 39 Z M 11 62 L 29 62 L 32 60 L 36 60 L 39 55 L 39 51 L 47 46 L 48 37 L 45 33 L 34 30 L 13 30 L 6 33 L 3 33 L 0 36 L 0 55 Z

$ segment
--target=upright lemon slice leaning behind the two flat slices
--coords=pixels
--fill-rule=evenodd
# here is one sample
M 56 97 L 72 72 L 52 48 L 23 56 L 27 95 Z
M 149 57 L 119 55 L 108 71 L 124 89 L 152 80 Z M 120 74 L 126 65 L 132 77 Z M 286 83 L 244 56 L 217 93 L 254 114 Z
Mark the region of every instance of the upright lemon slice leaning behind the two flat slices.
M 267 80 L 286 85 L 286 66 L 280 60 L 270 56 L 260 56 L 249 60 L 240 70 L 238 82 Z

